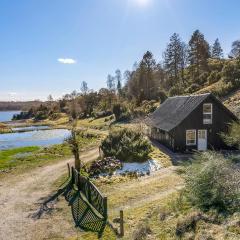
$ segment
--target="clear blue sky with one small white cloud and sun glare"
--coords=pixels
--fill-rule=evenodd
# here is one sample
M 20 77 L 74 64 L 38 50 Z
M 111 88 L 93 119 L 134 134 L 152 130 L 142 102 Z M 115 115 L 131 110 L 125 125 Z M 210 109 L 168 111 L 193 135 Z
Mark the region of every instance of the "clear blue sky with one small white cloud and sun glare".
M 0 101 L 98 90 L 170 36 L 194 30 L 227 56 L 240 38 L 239 0 L 0 0 Z

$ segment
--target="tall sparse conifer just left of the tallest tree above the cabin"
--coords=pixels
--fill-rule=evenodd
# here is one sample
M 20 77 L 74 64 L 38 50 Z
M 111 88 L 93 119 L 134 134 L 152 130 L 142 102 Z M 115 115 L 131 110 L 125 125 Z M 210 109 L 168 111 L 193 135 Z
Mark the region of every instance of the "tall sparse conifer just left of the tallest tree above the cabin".
M 184 68 L 186 66 L 186 44 L 181 41 L 179 35 L 174 33 L 164 52 L 164 66 L 168 74 L 170 86 L 184 82 Z

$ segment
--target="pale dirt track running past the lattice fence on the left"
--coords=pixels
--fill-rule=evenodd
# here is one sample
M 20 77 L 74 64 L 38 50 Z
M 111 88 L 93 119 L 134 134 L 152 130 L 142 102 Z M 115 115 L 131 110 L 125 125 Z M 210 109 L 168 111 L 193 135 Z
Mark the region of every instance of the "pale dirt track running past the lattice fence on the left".
M 97 157 L 98 149 L 92 149 L 82 155 L 82 160 L 91 161 Z M 39 236 L 39 228 L 47 219 L 36 222 L 30 216 L 36 211 L 43 197 L 53 191 L 53 183 L 66 173 L 68 162 L 73 160 L 40 167 L 0 182 L 0 240 L 44 239 Z M 61 226 L 52 226 L 54 227 Z

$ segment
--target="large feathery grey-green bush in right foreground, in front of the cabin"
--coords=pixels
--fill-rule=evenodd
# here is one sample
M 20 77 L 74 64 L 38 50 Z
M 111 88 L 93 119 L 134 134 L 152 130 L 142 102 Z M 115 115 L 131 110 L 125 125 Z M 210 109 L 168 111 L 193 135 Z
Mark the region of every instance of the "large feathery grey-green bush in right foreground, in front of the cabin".
M 186 171 L 186 195 L 201 210 L 240 210 L 240 171 L 223 155 L 206 152 L 195 157 Z

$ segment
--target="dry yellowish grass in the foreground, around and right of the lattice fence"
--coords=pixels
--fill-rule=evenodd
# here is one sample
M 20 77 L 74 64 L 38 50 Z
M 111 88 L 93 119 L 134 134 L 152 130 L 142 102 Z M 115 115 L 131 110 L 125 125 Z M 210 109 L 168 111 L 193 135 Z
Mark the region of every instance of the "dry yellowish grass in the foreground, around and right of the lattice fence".
M 176 170 L 170 167 L 141 178 L 113 177 L 95 181 L 101 192 L 108 196 L 109 220 L 115 228 L 119 229 L 116 223 L 119 210 L 124 211 L 125 236 L 121 239 L 238 240 L 240 213 L 216 218 L 214 212 L 203 213 L 190 206 L 181 194 L 184 180 Z M 51 218 L 52 221 L 60 218 L 64 225 L 69 226 L 66 229 L 68 236 L 58 232 L 54 234 L 56 239 L 97 240 L 96 234 L 73 227 L 71 209 L 63 198 L 58 202 L 58 211 Z M 102 239 L 118 238 L 107 226 Z

